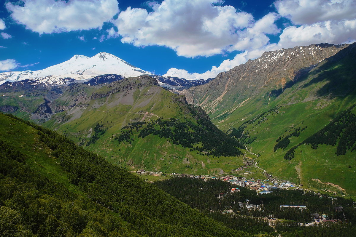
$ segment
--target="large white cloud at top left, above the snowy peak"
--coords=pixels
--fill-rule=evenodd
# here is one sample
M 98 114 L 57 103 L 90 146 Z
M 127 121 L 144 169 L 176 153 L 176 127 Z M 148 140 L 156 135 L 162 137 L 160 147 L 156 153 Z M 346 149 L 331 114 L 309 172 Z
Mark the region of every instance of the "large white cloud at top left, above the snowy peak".
M 17 23 L 40 34 L 101 28 L 118 11 L 117 0 L 24 0 L 6 8 Z

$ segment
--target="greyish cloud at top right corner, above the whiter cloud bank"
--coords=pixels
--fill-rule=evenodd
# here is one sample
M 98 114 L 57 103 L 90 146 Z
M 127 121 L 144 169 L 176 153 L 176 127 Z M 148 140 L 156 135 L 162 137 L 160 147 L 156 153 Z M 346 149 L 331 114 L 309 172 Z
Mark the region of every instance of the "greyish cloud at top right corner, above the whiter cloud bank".
M 274 6 L 297 25 L 356 18 L 355 0 L 278 0 Z

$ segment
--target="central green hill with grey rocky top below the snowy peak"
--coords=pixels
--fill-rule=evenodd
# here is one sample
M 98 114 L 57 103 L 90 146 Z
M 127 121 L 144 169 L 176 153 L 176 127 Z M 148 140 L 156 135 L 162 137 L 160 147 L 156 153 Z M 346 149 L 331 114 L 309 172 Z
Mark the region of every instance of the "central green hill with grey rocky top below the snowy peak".
M 223 173 L 239 167 L 236 139 L 217 129 L 200 108 L 149 76 L 99 88 L 72 85 L 44 126 L 117 165 L 180 173 Z M 209 157 L 208 157 L 209 155 Z

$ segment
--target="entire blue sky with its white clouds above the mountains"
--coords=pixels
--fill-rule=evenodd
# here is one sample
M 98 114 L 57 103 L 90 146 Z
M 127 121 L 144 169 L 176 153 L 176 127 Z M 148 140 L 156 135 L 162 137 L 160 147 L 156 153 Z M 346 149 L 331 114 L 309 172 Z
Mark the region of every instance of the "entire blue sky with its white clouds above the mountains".
M 355 9 L 354 0 L 10 0 L 0 4 L 0 72 L 107 52 L 206 79 L 265 51 L 352 43 Z

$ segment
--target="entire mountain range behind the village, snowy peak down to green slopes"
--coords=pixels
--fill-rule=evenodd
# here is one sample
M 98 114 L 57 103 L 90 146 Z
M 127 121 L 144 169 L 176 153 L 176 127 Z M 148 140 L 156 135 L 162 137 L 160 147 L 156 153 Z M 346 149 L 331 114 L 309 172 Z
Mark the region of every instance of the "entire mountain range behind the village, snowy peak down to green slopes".
M 258 166 L 355 197 L 355 55 L 355 44 L 281 49 L 209 80 L 153 75 L 107 53 L 76 55 L 1 73 L 0 110 L 130 171 L 266 178 Z

